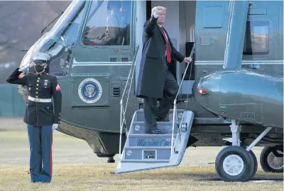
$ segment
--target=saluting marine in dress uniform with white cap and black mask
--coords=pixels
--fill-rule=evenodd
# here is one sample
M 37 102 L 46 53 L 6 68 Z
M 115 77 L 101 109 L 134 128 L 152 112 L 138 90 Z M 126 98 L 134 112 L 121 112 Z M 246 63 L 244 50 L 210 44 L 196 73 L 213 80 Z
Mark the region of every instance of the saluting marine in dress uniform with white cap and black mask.
M 62 94 L 57 78 L 45 72 L 48 60 L 49 55 L 38 53 L 33 58 L 35 72 L 21 75 L 29 66 L 17 68 L 6 80 L 28 88 L 29 97 L 23 121 L 27 124 L 30 143 L 31 182 L 51 181 L 53 130 L 60 124 Z

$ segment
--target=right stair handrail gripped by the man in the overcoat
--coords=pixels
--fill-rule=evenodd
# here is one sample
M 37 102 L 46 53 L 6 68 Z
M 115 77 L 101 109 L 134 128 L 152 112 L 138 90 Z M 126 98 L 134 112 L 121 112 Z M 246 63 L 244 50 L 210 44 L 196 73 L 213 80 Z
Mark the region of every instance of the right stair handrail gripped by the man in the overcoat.
M 190 58 L 192 58 L 193 53 L 195 53 L 195 43 L 193 44 L 192 50 L 190 52 Z M 187 62 L 187 67 L 185 68 L 185 73 L 182 77 L 182 81 L 180 82 L 180 87 L 182 87 L 182 82 L 185 79 L 185 75 L 186 75 L 187 68 L 188 68 L 189 65 L 190 65 L 190 62 Z M 192 72 L 192 64 L 190 65 L 190 77 L 191 77 L 191 72 Z M 180 87 L 178 88 L 178 93 L 180 92 Z M 173 126 L 172 126 L 172 139 L 171 139 L 171 146 L 170 146 L 170 160 L 172 159 L 172 156 L 173 156 L 173 133 L 174 133 L 174 129 L 175 129 L 175 115 L 177 115 L 176 117 L 178 118 L 178 114 L 177 114 L 178 93 L 175 96 L 175 101 L 174 101 L 174 105 L 173 105 Z M 188 93 L 187 93 L 187 99 L 188 99 Z M 188 102 L 188 100 L 187 100 L 187 102 Z

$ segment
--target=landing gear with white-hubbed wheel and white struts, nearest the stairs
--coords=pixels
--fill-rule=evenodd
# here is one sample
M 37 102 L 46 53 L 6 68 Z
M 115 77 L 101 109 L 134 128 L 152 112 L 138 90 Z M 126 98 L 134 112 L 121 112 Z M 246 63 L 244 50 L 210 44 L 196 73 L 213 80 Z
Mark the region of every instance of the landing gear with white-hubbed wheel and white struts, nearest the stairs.
M 215 169 L 220 178 L 228 182 L 246 182 L 256 175 L 258 162 L 256 155 L 251 148 L 258 143 L 272 128 L 268 127 L 255 141 L 247 148 L 241 146 L 241 137 L 239 125 L 236 120 L 231 120 L 231 138 L 224 140 L 231 142 L 231 146 L 226 146 L 219 152 L 215 161 Z

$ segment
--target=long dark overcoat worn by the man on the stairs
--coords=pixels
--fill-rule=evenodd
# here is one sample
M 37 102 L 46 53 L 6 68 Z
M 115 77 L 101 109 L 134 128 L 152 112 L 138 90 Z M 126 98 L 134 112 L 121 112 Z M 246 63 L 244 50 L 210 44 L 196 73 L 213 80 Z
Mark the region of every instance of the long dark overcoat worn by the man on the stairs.
M 144 23 L 143 49 L 136 97 L 163 98 L 163 89 L 168 64 L 165 58 L 165 38 L 163 37 L 162 29 L 157 24 L 157 20 L 158 18 L 152 16 L 149 21 Z M 165 31 L 165 33 L 168 36 L 167 31 Z M 182 62 L 185 59 L 185 56 L 181 55 L 173 47 L 173 43 L 169 36 L 168 42 L 172 58 L 169 69 L 176 79 L 176 60 Z

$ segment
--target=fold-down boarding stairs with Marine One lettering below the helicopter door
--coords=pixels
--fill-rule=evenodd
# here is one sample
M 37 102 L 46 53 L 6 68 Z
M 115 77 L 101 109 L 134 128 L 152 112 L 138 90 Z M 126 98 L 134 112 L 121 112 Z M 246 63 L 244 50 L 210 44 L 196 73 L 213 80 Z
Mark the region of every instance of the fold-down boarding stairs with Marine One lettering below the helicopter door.
M 180 164 L 187 148 L 194 114 L 192 111 L 177 109 L 174 115 L 173 111 L 171 109 L 167 116 L 169 121 L 157 121 L 158 129 L 165 134 L 147 133 L 143 109 L 135 111 L 116 167 L 117 174 Z

